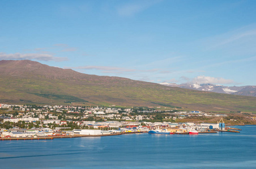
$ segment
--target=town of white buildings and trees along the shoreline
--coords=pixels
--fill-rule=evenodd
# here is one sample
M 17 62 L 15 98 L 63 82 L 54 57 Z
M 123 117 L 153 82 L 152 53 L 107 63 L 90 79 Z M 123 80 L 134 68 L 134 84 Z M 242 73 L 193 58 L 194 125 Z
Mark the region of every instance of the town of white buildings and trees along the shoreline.
M 118 133 L 165 130 L 185 134 L 189 130 L 201 133 L 222 130 L 219 123 L 181 122 L 184 119 L 225 117 L 200 111 L 180 111 L 159 108 L 115 108 L 101 106 L 70 105 L 9 105 L 0 104 L 0 136 L 8 137 L 67 137 L 78 135 L 113 135 Z M 247 117 L 255 121 L 255 117 Z M 223 122 L 224 123 L 224 122 Z M 228 128 L 224 127 L 224 130 Z M 210 131 L 211 130 L 211 131 Z

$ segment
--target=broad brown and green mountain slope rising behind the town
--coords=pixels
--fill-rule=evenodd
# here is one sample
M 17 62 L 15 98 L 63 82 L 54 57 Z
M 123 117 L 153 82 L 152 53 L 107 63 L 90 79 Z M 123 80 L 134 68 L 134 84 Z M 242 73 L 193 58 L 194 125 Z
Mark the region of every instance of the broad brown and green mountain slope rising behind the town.
M 0 61 L 0 103 L 161 106 L 256 112 L 256 97 L 89 75 L 30 60 Z

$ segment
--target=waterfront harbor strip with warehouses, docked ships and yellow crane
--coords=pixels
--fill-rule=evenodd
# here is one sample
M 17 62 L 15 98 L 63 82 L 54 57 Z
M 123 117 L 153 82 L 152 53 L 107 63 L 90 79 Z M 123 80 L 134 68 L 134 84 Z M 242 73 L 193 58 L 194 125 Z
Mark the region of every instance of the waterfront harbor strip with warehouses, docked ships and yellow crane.
M 109 122 L 106 122 L 109 123 Z M 145 122 L 146 123 L 146 122 Z M 145 124 L 142 123 L 142 124 Z M 114 123 L 110 123 L 114 124 Z M 120 123 L 121 124 L 121 123 Z M 95 125 L 95 129 L 74 129 L 69 127 L 52 128 L 34 128 L 25 130 L 22 128 L 12 128 L 9 130 L 1 129 L 0 140 L 52 140 L 65 139 L 74 137 L 102 137 L 117 136 L 126 134 L 165 134 L 165 135 L 198 135 L 198 134 L 216 134 L 217 132 L 234 132 L 240 133 L 240 128 L 225 126 L 223 118 L 217 123 L 147 123 L 145 126 L 140 123 L 126 123 L 126 126 L 120 128 L 111 128 L 108 126 Z M 99 130 L 99 129 L 103 130 Z M 108 128 L 108 130 L 106 130 Z M 109 130 L 110 129 L 110 130 Z

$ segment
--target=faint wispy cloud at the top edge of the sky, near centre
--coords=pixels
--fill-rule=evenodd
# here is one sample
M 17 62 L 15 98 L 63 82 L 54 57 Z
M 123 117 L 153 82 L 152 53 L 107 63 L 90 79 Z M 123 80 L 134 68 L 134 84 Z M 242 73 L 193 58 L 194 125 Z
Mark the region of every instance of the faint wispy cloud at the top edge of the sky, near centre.
M 160 1 L 134 1 L 134 3 L 127 3 L 126 5 L 117 8 L 117 14 L 120 16 L 134 16 L 139 12 L 147 10 L 151 6 Z

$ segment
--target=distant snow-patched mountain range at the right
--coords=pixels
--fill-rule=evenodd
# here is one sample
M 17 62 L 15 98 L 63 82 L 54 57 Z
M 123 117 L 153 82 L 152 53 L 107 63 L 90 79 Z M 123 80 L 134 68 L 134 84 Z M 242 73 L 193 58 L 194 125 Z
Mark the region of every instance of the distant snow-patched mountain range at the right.
M 170 87 L 181 87 L 181 88 L 189 88 L 193 90 L 199 90 L 199 91 L 210 91 L 210 92 L 216 92 L 219 94 L 232 94 L 232 95 L 242 95 L 242 96 L 254 96 L 256 97 L 256 86 L 222 86 L 220 84 L 189 84 L 189 83 L 183 83 L 183 84 L 175 84 L 175 83 L 160 83 L 164 86 L 170 86 Z

